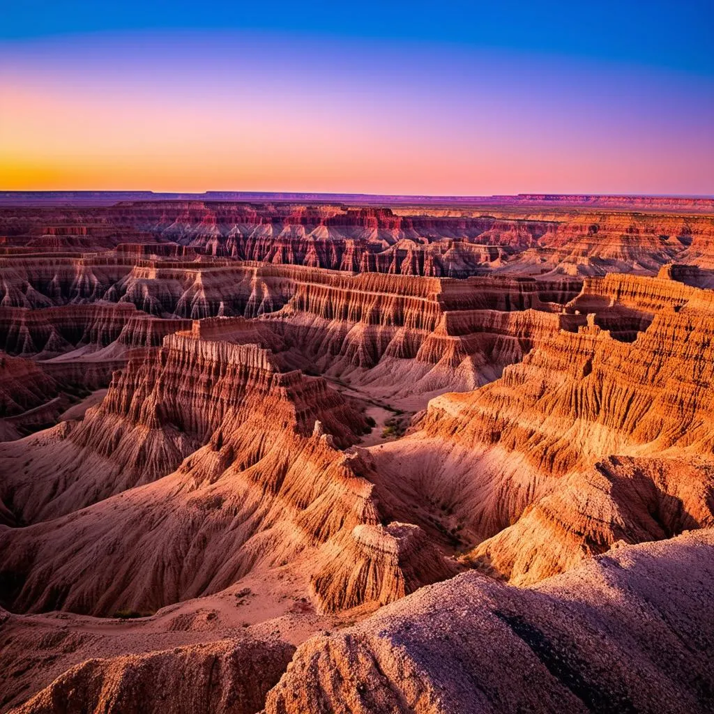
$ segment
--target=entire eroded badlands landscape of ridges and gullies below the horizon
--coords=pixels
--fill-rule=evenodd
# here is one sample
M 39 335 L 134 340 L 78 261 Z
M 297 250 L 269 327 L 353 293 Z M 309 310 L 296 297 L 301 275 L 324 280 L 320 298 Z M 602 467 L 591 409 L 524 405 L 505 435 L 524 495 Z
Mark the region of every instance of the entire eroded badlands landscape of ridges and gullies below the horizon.
M 0 207 L 0 710 L 713 711 L 714 216 L 565 198 Z

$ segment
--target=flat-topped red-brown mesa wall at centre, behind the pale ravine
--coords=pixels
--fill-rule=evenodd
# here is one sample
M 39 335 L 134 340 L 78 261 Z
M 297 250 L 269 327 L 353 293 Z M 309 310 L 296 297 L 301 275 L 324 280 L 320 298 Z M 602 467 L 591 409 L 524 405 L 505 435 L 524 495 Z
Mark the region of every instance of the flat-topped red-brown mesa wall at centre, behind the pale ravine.
M 542 331 L 536 324 L 548 331 L 584 322 L 546 314 L 560 310 L 546 300 L 568 299 L 575 286 L 567 281 L 301 278 L 288 303 L 263 319 L 319 370 L 388 397 L 474 388 L 531 348 Z M 523 312 L 531 307 L 537 312 Z

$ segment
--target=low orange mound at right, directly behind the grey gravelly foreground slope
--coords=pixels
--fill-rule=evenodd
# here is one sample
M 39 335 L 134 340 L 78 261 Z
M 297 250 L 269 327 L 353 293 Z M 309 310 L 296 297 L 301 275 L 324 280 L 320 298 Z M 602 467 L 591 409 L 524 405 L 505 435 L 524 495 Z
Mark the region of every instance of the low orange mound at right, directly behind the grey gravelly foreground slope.
M 573 473 L 466 556 L 471 566 L 533 583 L 625 543 L 714 526 L 714 467 L 610 456 Z

